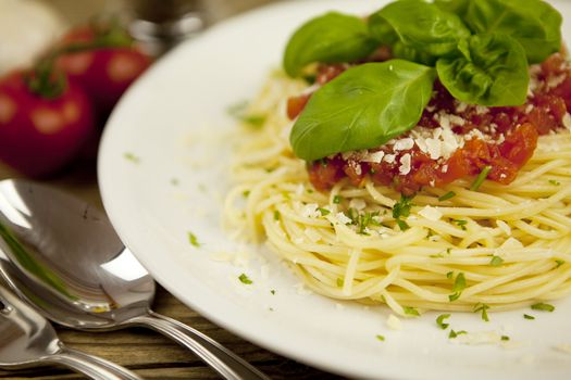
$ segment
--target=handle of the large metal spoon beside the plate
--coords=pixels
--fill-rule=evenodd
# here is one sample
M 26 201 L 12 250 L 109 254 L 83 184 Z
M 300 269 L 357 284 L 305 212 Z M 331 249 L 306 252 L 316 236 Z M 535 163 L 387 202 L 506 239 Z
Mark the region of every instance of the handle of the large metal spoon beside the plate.
M 194 352 L 200 359 L 212 367 L 220 376 L 228 380 L 270 380 L 270 378 L 200 331 L 178 320 L 152 311 L 148 315 L 135 317 L 129 322 L 149 327 L 176 341 Z

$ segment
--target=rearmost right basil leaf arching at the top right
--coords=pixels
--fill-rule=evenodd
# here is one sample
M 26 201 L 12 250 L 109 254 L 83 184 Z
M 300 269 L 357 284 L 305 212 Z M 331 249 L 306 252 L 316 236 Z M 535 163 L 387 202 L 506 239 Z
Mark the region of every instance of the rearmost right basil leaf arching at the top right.
M 525 49 L 530 63 L 543 62 L 561 49 L 561 14 L 544 1 L 473 0 L 464 12 L 464 23 L 474 34 L 513 37 Z

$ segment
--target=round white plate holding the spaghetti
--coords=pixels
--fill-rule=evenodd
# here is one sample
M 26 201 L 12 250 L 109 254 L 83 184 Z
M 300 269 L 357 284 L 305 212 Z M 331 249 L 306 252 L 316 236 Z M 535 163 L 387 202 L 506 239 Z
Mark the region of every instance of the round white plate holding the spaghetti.
M 569 379 L 571 354 L 555 346 L 571 344 L 571 300 L 556 302 L 555 313 L 492 314 L 487 324 L 477 314 L 455 314 L 449 322 L 456 330 L 494 331 L 521 343 L 460 345 L 447 338 L 449 330 L 437 328 L 437 313 L 404 320 L 402 330 L 394 331 L 386 326 L 385 307 L 300 294 L 298 280 L 264 249 L 249 250 L 253 257 L 245 266 L 213 259 L 220 252 L 245 250 L 220 223 L 229 185 L 231 141 L 224 134 L 234 128 L 227 107 L 255 96 L 301 22 L 326 10 L 365 14 L 382 4 L 276 3 L 213 27 L 156 64 L 105 128 L 99 180 L 107 212 L 126 245 L 181 301 L 294 359 L 360 378 Z M 569 3 L 557 5 L 571 16 Z M 571 35 L 569 23 L 564 30 Z M 189 243 L 188 231 L 200 249 Z M 238 281 L 243 273 L 253 284 Z M 536 319 L 526 320 L 523 313 Z

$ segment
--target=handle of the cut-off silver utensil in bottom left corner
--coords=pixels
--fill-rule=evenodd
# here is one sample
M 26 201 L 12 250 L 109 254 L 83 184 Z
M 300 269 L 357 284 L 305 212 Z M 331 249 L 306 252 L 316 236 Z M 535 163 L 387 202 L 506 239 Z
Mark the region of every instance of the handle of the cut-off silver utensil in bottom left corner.
M 136 373 L 114 363 L 60 344 L 60 351 L 44 362 L 60 364 L 94 380 L 142 380 Z

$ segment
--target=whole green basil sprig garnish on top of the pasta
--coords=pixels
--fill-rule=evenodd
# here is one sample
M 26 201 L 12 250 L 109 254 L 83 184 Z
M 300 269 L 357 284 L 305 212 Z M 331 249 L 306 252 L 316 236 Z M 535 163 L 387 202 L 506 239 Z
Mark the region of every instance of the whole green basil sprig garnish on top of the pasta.
M 294 152 L 313 161 L 410 130 L 436 75 L 463 102 L 523 104 L 529 63 L 559 51 L 560 26 L 561 15 L 542 0 L 400 0 L 368 20 L 335 12 L 313 18 L 287 45 L 288 75 L 314 62 L 360 61 L 378 46 L 396 60 L 350 67 L 316 90 L 291 130 Z

